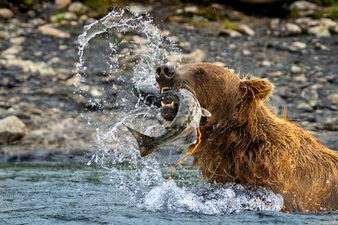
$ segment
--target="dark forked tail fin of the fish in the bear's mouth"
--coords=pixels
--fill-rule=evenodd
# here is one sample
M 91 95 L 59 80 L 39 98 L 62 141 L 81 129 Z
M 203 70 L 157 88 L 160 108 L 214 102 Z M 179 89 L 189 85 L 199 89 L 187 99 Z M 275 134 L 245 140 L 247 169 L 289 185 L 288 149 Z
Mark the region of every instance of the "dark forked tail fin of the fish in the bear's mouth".
M 123 124 L 124 125 L 124 124 Z M 133 130 L 133 128 L 125 125 L 128 130 L 133 134 L 136 141 L 138 142 L 138 148 L 140 149 L 140 156 L 145 157 L 150 155 L 155 150 L 155 143 L 153 137 L 143 135 L 143 133 L 138 132 L 137 130 Z

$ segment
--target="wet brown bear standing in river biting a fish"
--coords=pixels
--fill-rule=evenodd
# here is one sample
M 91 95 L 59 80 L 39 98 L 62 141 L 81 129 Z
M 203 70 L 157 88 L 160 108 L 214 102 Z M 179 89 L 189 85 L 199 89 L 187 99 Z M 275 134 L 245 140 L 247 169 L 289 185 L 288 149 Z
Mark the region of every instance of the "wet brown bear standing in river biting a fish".
M 209 182 L 270 187 L 283 211 L 338 210 L 338 152 L 267 105 L 267 79 L 240 78 L 212 63 L 156 69 L 160 88 L 186 88 L 211 112 L 194 164 Z

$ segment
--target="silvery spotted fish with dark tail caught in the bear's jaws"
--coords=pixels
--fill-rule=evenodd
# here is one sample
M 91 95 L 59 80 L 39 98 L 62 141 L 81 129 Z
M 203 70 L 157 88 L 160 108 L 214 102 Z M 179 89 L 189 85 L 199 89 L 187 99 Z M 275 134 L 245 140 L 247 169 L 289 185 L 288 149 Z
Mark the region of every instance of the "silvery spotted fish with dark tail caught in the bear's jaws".
M 210 116 L 210 112 L 200 107 L 193 93 L 186 89 L 168 90 L 162 94 L 163 101 L 178 103 L 178 112 L 168 127 L 157 136 L 147 136 L 128 127 L 138 142 L 140 155 L 145 157 L 165 145 L 182 148 L 195 144 L 198 139 L 197 128 L 200 118 Z

